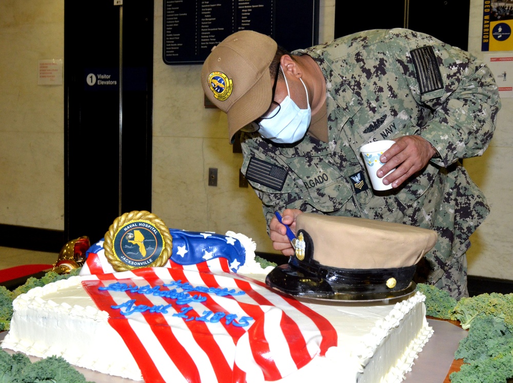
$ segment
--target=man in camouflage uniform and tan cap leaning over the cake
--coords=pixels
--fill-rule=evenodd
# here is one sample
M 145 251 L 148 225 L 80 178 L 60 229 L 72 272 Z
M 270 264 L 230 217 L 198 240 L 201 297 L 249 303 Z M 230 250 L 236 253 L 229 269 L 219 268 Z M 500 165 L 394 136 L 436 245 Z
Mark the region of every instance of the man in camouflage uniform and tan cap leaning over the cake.
M 276 143 L 262 130 L 241 137 L 242 172 L 262 200 L 274 249 L 293 254 L 276 211 L 292 229 L 300 212 L 433 229 L 439 239 L 416 280 L 467 296 L 468 238 L 489 208 L 459 159 L 482 155 L 495 130 L 500 98 L 489 69 L 406 29 L 365 31 L 292 54 L 273 43 L 250 31 L 229 36 L 207 58 L 202 83 L 227 112 L 230 139 L 287 94 L 300 108 L 311 106 L 298 142 Z M 211 82 L 219 73 L 222 92 Z M 359 151 L 380 139 L 396 141 L 381 157 L 378 176 L 396 168 L 384 178 L 393 187 L 385 192 L 370 186 Z

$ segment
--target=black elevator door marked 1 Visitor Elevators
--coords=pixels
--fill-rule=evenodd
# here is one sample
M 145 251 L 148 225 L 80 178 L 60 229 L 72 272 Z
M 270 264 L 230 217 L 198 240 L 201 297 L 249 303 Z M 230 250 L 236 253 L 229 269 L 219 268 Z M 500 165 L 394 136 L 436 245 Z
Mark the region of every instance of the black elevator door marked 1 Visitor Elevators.
M 68 0 L 64 15 L 64 234 L 96 241 L 151 211 L 153 1 Z

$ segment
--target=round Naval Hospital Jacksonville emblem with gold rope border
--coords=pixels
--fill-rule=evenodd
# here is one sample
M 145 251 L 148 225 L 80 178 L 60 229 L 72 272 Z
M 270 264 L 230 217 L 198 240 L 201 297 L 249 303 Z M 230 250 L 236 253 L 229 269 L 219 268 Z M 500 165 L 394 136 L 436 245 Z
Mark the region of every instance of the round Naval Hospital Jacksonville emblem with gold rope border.
M 105 256 L 116 271 L 162 267 L 172 253 L 172 237 L 164 222 L 148 211 L 117 217 L 105 233 Z

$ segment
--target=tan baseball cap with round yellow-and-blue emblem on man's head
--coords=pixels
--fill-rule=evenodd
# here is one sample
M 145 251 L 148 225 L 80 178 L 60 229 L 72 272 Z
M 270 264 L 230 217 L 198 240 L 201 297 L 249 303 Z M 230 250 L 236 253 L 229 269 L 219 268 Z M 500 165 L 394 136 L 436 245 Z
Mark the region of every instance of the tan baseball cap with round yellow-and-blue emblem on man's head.
M 205 60 L 201 83 L 208 99 L 228 116 L 228 137 L 259 118 L 271 105 L 269 65 L 277 43 L 243 30 L 226 37 Z

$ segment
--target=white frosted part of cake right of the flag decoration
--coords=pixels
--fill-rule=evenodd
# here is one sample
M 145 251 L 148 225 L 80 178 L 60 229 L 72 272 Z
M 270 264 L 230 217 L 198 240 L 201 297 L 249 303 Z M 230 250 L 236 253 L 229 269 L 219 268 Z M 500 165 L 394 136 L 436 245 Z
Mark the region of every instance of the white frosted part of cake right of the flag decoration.
M 400 382 L 411 371 L 433 330 L 425 318 L 425 296 L 416 293 L 396 304 L 307 304 L 326 316 L 338 332 L 338 346 L 299 371 L 301 381 Z M 331 379 L 330 379 L 331 377 Z M 298 381 L 289 375 L 282 383 Z

